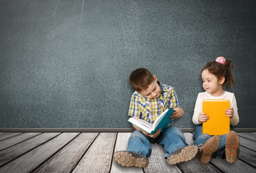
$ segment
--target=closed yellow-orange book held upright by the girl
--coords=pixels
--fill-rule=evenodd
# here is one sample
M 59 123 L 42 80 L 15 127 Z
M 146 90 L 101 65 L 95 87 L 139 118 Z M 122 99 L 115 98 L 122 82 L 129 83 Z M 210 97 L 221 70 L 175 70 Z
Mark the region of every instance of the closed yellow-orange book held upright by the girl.
M 203 100 L 203 112 L 209 116 L 209 120 L 203 122 L 203 134 L 223 135 L 230 131 L 230 118 L 225 114 L 229 107 L 229 100 Z

